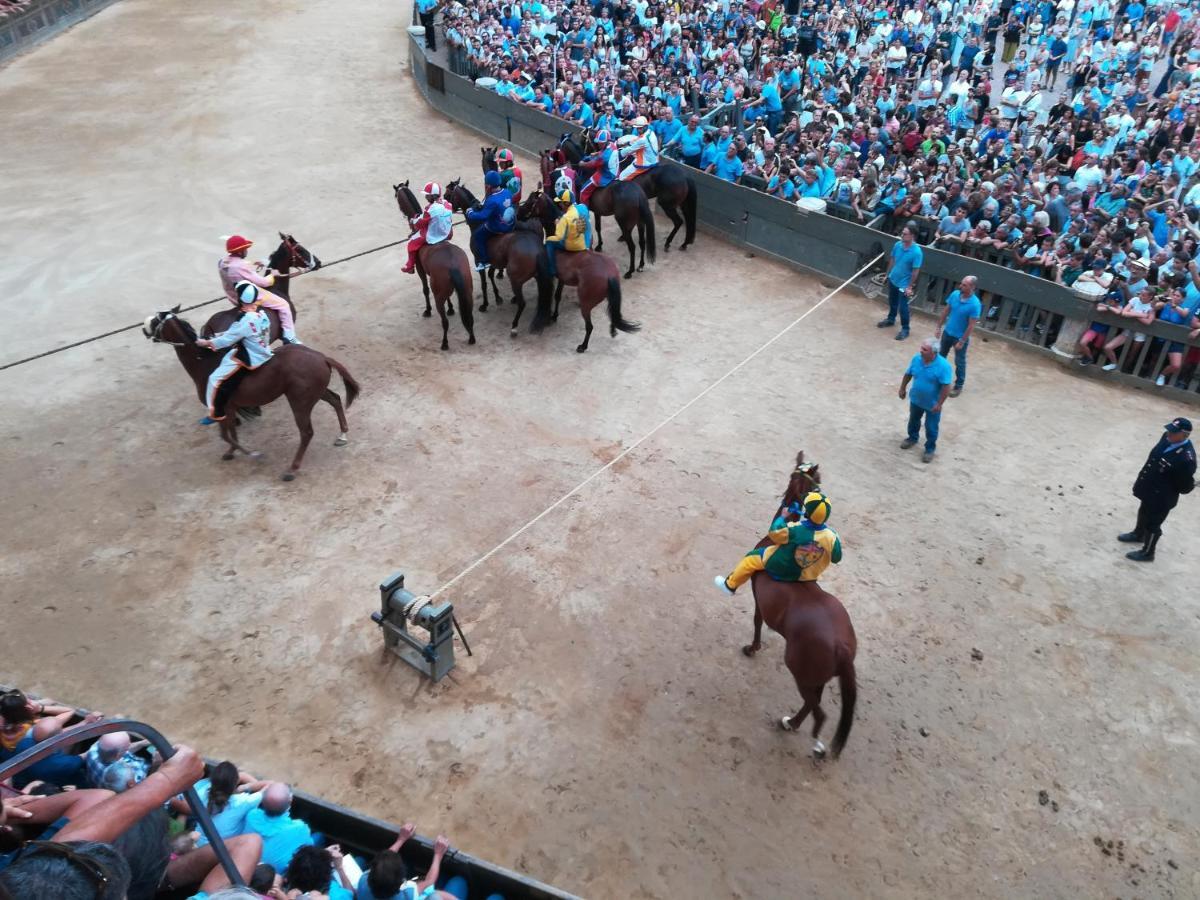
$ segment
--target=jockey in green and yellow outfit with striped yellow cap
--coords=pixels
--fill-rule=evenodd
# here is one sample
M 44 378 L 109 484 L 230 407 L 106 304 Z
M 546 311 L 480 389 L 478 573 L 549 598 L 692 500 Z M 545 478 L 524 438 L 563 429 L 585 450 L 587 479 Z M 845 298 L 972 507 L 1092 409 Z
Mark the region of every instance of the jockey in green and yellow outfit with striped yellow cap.
M 809 493 L 803 504 L 793 503 L 772 523 L 767 533 L 770 546 L 751 550 L 728 576 L 718 575 L 713 580 L 716 589 L 732 595 L 761 571 L 775 581 L 816 581 L 829 563 L 841 562 L 841 539 L 826 524 L 829 510 L 829 500 L 818 491 Z M 788 512 L 800 512 L 800 521 L 788 522 Z

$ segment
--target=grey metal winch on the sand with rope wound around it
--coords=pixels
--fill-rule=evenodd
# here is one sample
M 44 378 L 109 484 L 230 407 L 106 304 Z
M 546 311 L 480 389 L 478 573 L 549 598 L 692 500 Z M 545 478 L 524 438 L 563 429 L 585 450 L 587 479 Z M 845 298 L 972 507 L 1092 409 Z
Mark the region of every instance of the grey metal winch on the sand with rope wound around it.
M 371 620 L 383 630 L 384 648 L 432 680 L 442 680 L 454 668 L 455 629 L 470 655 L 470 644 L 454 617 L 454 606 L 407 590 L 403 572 L 395 572 L 379 584 L 379 612 L 371 613 Z M 424 630 L 426 637 L 414 634 L 414 629 Z

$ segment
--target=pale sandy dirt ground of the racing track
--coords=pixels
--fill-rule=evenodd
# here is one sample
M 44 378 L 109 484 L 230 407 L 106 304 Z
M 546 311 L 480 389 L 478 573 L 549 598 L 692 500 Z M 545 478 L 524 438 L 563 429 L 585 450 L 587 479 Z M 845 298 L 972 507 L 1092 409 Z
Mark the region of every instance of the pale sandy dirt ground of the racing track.
M 334 258 L 402 233 L 392 180 L 478 180 L 404 22 L 126 0 L 0 70 L 0 359 L 211 296 L 220 234 Z M 400 264 L 296 284 L 365 392 L 346 449 L 318 410 L 292 485 L 286 409 L 246 430 L 268 461 L 220 462 L 136 331 L 0 376 L 0 676 L 589 896 L 1200 894 L 1200 504 L 1152 566 L 1114 540 L 1182 410 L 985 342 L 923 466 L 898 449 L 916 341 L 840 295 L 466 578 L 476 655 L 431 686 L 382 661 L 378 581 L 440 584 L 826 290 L 702 236 L 628 286 L 641 334 L 581 358 L 574 305 L 517 340 L 505 306 L 439 353 Z M 744 659 L 750 599 L 709 586 L 799 448 L 859 635 L 836 763 L 773 727 L 798 706 L 782 642 Z

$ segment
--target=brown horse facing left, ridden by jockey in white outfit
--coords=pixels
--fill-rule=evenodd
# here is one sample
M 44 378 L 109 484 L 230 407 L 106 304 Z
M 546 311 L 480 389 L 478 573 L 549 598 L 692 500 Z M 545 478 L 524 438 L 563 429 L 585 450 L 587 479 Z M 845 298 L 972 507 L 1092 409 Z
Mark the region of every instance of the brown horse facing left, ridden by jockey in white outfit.
M 209 374 L 217 367 L 227 350 L 198 347 L 196 329 L 179 318 L 179 306 L 148 317 L 142 326 L 142 334 L 155 343 L 168 343 L 175 348 L 175 355 L 196 384 L 196 392 L 203 403 Z M 294 480 L 300 470 L 300 462 L 304 460 L 305 450 L 308 449 L 308 442 L 312 440 L 312 408 L 317 406 L 318 400 L 324 400 L 337 413 L 337 424 L 342 431 L 334 446 L 346 446 L 349 440 L 346 409 L 342 408 L 342 398 L 329 388 L 334 370 L 342 376 L 342 383 L 346 385 L 346 406 L 349 408 L 359 396 L 359 383 L 346 366 L 311 347 L 299 344 L 281 347 L 275 350 L 272 359 L 253 372 L 247 372 L 234 388 L 227 406 L 229 414 L 221 421 L 221 437 L 229 445 L 221 458 L 232 460 L 236 450 L 252 458 L 260 456 L 257 451 L 247 450 L 238 443 L 235 413 L 241 407 L 263 406 L 281 396 L 288 398 L 296 428 L 300 431 L 300 446 L 295 458 L 292 460 L 292 467 L 282 475 L 284 481 Z

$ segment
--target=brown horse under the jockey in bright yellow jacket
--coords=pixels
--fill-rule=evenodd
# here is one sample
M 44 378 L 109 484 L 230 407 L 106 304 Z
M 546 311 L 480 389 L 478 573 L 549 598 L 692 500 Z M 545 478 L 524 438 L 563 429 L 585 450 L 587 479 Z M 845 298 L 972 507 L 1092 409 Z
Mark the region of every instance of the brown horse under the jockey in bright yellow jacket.
M 535 188 L 521 204 L 517 220 L 535 218 L 548 234 L 554 228 L 556 212 L 550 198 L 540 188 Z M 592 310 L 601 300 L 608 301 L 608 334 L 612 337 L 616 337 L 618 331 L 632 332 L 642 328 L 636 322 L 628 322 L 620 314 L 620 270 L 611 257 L 593 250 L 572 253 L 559 252 L 556 263 L 558 266 L 558 293 L 556 294 L 554 311 L 551 313 L 550 259 L 545 253 L 538 257 L 538 313 L 534 316 L 533 331 L 540 332 L 547 324 L 558 319 L 558 302 L 563 298 L 564 284 L 570 284 L 576 289 L 575 293 L 580 298 L 580 314 L 583 316 L 586 329 L 583 343 L 575 348 L 576 353 L 583 353 L 588 349 L 588 341 L 592 340 Z

